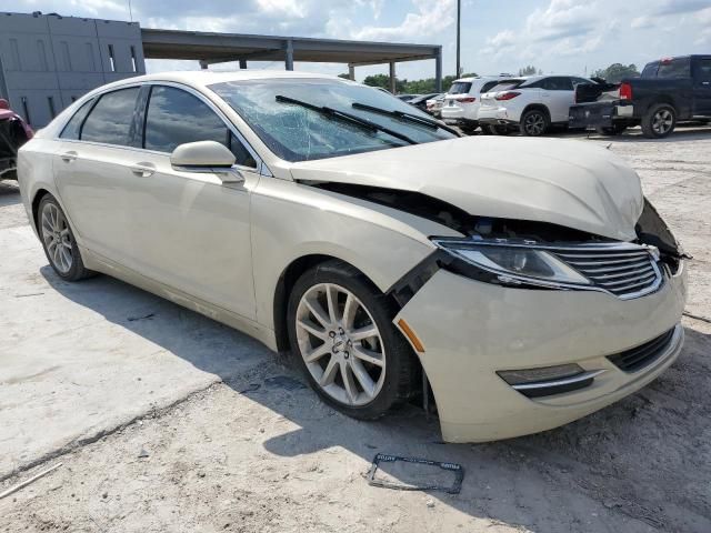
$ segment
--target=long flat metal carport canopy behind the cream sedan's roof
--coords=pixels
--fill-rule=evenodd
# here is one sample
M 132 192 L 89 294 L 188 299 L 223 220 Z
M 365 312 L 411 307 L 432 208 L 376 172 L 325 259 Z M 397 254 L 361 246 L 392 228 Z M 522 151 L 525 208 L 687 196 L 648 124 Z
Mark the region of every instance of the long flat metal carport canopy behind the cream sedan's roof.
M 250 36 L 141 28 L 147 59 L 198 60 L 203 64 L 226 61 L 294 61 L 364 64 L 433 59 L 438 84 L 442 77 L 442 47 L 395 42 L 346 41 L 304 37 Z M 351 71 L 352 76 L 352 71 Z

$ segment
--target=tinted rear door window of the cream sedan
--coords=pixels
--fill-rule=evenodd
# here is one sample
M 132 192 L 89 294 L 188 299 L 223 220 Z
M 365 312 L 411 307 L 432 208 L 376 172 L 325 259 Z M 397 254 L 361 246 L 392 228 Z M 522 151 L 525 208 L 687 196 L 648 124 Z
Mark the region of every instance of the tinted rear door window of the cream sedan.
M 132 87 L 103 94 L 81 127 L 81 140 L 131 145 L 138 93 L 139 88 Z

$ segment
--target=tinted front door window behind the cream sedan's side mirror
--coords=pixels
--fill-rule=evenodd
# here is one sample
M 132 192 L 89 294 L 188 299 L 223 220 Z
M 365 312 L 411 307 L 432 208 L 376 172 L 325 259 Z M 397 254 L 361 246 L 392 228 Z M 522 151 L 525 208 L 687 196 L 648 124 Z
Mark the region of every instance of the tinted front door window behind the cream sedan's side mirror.
M 182 89 L 153 86 L 143 148 L 170 153 L 180 144 L 198 141 L 219 142 L 232 151 L 237 164 L 257 167 L 249 150 L 207 103 Z

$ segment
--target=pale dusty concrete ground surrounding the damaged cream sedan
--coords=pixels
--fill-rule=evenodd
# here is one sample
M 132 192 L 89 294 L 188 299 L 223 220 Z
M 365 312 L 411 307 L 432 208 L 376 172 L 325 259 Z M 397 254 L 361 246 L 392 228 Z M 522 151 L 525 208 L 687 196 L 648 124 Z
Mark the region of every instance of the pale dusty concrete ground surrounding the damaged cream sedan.
M 238 332 L 108 276 L 63 283 L 0 183 L 0 492 L 62 462 L 0 500 L 0 531 L 711 531 L 711 131 L 581 142 L 639 171 L 694 257 L 697 318 L 637 394 L 479 445 L 414 408 L 344 418 Z M 372 487 L 377 452 L 458 462 L 462 491 Z

